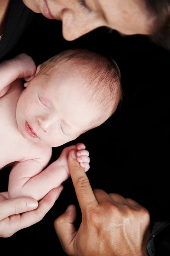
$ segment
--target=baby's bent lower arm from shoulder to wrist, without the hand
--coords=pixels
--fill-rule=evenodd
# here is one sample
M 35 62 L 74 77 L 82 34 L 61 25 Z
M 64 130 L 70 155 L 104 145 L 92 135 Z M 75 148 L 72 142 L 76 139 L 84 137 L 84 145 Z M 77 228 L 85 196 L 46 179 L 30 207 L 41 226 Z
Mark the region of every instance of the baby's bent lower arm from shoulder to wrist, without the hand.
M 51 152 L 46 152 L 40 158 L 15 163 L 9 175 L 9 198 L 28 196 L 40 200 L 51 189 L 58 187 L 67 176 L 58 161 L 42 171 L 50 157 Z

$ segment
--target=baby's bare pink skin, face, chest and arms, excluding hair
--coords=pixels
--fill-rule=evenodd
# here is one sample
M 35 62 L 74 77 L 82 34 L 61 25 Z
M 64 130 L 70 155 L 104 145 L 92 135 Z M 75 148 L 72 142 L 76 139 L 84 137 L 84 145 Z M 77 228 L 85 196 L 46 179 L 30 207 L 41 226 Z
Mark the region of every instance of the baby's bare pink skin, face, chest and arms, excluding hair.
M 108 116 L 107 111 L 101 114 L 95 100 L 89 100 L 92 91 L 85 93 L 87 81 L 81 75 L 81 65 L 75 68 L 68 61 L 58 66 L 57 72 L 38 76 L 40 66 L 36 70 L 26 54 L 0 64 L 0 169 L 14 163 L 9 175 L 9 198 L 27 196 L 39 201 L 60 186 L 70 175 L 71 149 L 77 150 L 77 160 L 85 171 L 90 168 L 89 152 L 82 143 L 65 148 L 46 167 L 51 147 L 74 140 L 93 128 L 96 118 L 101 117 L 99 125 Z M 22 77 L 27 81 L 25 90 L 19 79 Z M 13 148 L 10 154 L 9 147 Z

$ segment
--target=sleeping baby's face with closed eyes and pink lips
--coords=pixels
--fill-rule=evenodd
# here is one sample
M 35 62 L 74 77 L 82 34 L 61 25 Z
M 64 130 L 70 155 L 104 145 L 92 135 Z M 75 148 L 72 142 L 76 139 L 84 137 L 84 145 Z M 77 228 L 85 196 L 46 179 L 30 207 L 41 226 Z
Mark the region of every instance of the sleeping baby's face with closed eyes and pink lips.
M 45 81 L 36 76 L 21 94 L 16 110 L 22 136 L 57 147 L 94 127 L 97 104 L 88 100 L 80 76 L 58 74 Z

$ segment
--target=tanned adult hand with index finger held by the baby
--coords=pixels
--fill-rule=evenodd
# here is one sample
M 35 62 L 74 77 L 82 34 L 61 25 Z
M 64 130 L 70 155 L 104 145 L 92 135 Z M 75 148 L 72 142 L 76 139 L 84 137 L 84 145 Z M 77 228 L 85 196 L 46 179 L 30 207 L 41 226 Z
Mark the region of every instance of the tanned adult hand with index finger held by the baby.
M 72 157 L 71 157 L 72 156 Z M 76 231 L 76 209 L 69 206 L 54 221 L 63 249 L 71 256 L 145 256 L 150 236 L 150 215 L 129 198 L 91 189 L 84 169 L 76 160 L 76 151 L 68 155 L 71 178 L 82 211 L 82 223 Z

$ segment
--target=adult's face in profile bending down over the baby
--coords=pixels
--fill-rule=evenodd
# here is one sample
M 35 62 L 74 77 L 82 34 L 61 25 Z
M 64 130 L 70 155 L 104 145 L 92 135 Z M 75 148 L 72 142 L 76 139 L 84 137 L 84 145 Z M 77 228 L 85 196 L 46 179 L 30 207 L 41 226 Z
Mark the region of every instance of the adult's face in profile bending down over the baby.
M 66 40 L 79 38 L 100 26 L 125 35 L 148 35 L 155 17 L 147 11 L 145 0 L 23 0 L 37 13 L 62 20 Z

